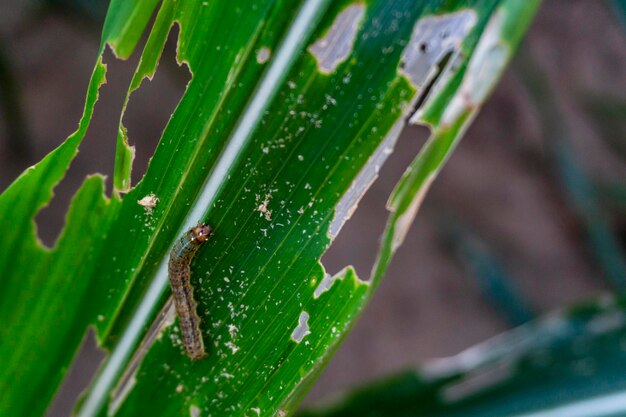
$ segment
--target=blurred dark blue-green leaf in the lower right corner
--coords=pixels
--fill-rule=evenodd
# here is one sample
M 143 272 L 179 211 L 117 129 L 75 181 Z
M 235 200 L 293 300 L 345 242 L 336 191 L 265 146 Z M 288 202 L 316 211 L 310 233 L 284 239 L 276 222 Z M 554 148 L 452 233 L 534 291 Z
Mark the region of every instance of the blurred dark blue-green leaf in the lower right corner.
M 626 303 L 556 312 L 300 417 L 618 416 L 626 412 Z

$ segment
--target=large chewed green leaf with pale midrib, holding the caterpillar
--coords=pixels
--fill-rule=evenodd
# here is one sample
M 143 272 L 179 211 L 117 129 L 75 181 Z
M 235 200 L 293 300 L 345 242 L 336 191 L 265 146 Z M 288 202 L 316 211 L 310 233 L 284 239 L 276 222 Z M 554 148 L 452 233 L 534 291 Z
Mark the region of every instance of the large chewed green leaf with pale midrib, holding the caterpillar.
M 84 136 L 104 81 L 99 64 L 79 131 L 0 196 L 0 227 L 14 230 L 0 256 L 0 340 L 12 341 L 0 344 L 9 364 L 0 384 L 12 392 L 0 414 L 40 414 L 89 326 L 110 355 L 79 415 L 292 412 L 371 297 L 537 6 L 162 2 L 123 108 L 154 74 L 174 23 L 192 78 L 143 179 L 130 183 L 132 132 L 120 123 L 111 199 L 101 177 L 86 180 L 55 249 L 37 242 L 33 218 Z M 101 51 L 109 44 L 129 56 L 155 7 L 113 1 Z M 351 268 L 330 276 L 319 259 L 409 116 L 430 124 L 433 138 L 391 197 L 372 279 Z M 201 221 L 215 230 L 191 278 L 209 357 L 192 362 L 172 325 L 167 254 Z

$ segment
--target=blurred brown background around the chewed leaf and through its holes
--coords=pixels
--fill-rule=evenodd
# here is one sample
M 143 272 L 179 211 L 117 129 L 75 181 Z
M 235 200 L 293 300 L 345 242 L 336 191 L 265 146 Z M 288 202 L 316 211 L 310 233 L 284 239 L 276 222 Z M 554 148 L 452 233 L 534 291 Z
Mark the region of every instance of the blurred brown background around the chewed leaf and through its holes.
M 608 5 L 544 2 L 310 401 L 626 286 L 626 27 Z M 105 9 L 93 0 L 0 3 L 0 190 L 75 129 Z M 188 79 L 172 46 L 124 116 L 137 146 L 135 182 Z M 84 176 L 112 170 L 136 58 L 107 52 L 105 62 L 107 85 L 81 153 L 37 217 L 48 245 Z M 325 255 L 330 273 L 353 264 L 367 278 L 386 199 L 426 135 L 406 129 Z M 101 355 L 88 345 L 50 415 L 65 415 L 94 372 Z

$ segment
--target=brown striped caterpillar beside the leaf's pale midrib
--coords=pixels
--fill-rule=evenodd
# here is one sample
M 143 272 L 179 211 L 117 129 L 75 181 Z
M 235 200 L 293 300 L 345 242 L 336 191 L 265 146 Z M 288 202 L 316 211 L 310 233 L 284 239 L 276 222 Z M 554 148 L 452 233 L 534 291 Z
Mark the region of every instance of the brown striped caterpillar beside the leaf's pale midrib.
M 183 335 L 183 345 L 187 356 L 195 361 L 204 358 L 207 353 L 200 333 L 200 317 L 196 311 L 196 300 L 193 298 L 189 266 L 198 248 L 211 237 L 212 233 L 211 226 L 206 224 L 198 224 L 189 229 L 172 248 L 168 263 L 170 286 L 178 324 Z

